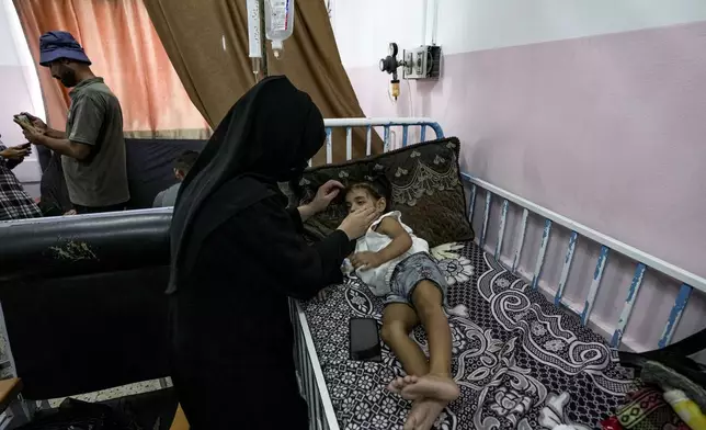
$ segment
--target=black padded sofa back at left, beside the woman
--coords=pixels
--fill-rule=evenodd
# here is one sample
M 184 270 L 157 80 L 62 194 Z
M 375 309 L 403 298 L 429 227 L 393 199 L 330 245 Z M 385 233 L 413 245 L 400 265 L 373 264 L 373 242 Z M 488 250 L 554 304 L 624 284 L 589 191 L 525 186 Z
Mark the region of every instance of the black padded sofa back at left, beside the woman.
M 169 375 L 171 210 L 0 223 L 0 303 L 29 399 Z

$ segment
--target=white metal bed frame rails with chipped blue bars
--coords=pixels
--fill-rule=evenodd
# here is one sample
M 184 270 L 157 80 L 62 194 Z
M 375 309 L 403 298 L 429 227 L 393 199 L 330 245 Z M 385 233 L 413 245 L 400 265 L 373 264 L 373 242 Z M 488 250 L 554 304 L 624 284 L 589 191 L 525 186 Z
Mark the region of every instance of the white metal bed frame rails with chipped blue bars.
M 335 120 L 324 120 L 324 125 L 327 129 L 327 143 L 326 143 L 326 159 L 327 163 L 331 163 L 333 159 L 333 142 L 332 133 L 333 128 L 344 128 L 345 129 L 345 155 L 346 160 L 352 158 L 352 147 L 353 147 L 353 128 L 365 128 L 367 136 L 367 155 L 371 154 L 371 143 L 372 143 L 372 132 L 375 128 L 376 131 L 383 132 L 384 139 L 384 150 L 387 151 L 396 146 L 407 146 L 408 142 L 424 142 L 426 140 L 426 129 L 431 128 L 435 133 L 436 138 L 444 137 L 442 127 L 432 120 L 429 118 L 335 118 Z M 397 131 L 401 128 L 401 142 L 396 142 Z M 412 139 L 410 136 L 414 134 Z M 546 207 L 539 206 L 533 202 L 530 202 L 526 199 L 523 199 L 519 195 L 515 195 L 506 190 L 503 190 L 499 186 L 496 186 L 489 182 L 486 182 L 481 179 L 475 178 L 467 172 L 463 172 L 462 177 L 464 179 L 465 185 L 469 194 L 469 217 L 472 220 L 474 214 L 476 212 L 476 200 L 485 190 L 483 199 L 483 212 L 482 212 L 482 222 L 479 229 L 477 229 L 476 241 L 486 251 L 489 251 L 496 256 L 496 259 L 503 263 L 501 259 L 501 252 L 503 242 L 505 239 L 505 229 L 508 226 L 508 213 L 511 204 L 516 205 L 522 208 L 522 217 L 520 223 L 520 228 L 516 231 L 516 238 L 514 240 L 515 247 L 512 250 L 512 259 L 510 264 L 503 264 L 506 270 L 513 272 L 520 278 L 531 284 L 533 287 L 537 288 L 539 286 L 542 269 L 545 265 L 545 257 L 547 254 L 547 244 L 549 240 L 549 235 L 551 231 L 553 225 L 559 225 L 565 227 L 570 231 L 570 237 L 567 244 L 566 254 L 562 258 L 562 269 L 559 279 L 559 286 L 554 293 L 554 303 L 556 306 L 563 307 L 565 309 L 571 310 L 577 314 L 584 326 L 591 325 L 592 321 L 592 309 L 595 303 L 595 298 L 599 293 L 599 287 L 601 285 L 601 280 L 603 278 L 608 251 L 613 253 L 618 253 L 625 256 L 630 261 L 635 262 L 635 272 L 631 276 L 631 282 L 627 286 L 625 292 L 625 301 L 623 304 L 622 313 L 619 314 L 618 320 L 614 324 L 612 336 L 605 336 L 606 340 L 614 348 L 620 348 L 623 343 L 623 335 L 627 328 L 630 315 L 634 312 L 634 305 L 637 299 L 639 288 L 642 284 L 645 273 L 649 268 L 651 271 L 662 273 L 671 278 L 672 280 L 679 282 L 681 287 L 676 294 L 674 306 L 672 306 L 669 316 L 665 318 L 664 329 L 662 335 L 657 342 L 659 348 L 664 348 L 671 343 L 674 332 L 679 326 L 681 317 L 686 308 L 690 296 L 694 290 L 699 293 L 706 293 L 706 279 L 698 276 L 692 272 L 688 272 L 682 268 L 679 268 L 674 264 L 668 263 L 657 257 L 650 256 L 647 252 L 644 252 L 635 247 L 626 245 L 622 241 L 618 241 L 607 235 L 604 235 L 600 231 L 596 231 L 592 228 L 589 228 L 580 223 L 577 223 L 566 216 L 559 215 L 555 212 L 547 210 Z M 501 201 L 501 211 L 500 219 L 498 223 L 498 233 L 494 247 L 490 244 L 487 244 L 489 236 L 489 226 L 490 226 L 490 216 L 491 216 L 491 204 L 493 197 L 498 197 Z M 534 264 L 533 273 L 522 273 L 519 271 L 520 258 L 523 251 L 523 246 L 525 242 L 525 234 L 527 229 L 527 220 L 531 216 L 540 217 L 544 219 L 544 229 L 539 242 L 539 249 L 537 252 L 536 262 Z M 480 231 L 478 231 L 480 230 Z M 563 298 L 565 287 L 569 276 L 569 272 L 572 263 L 574 262 L 574 250 L 578 238 L 585 238 L 601 247 L 601 251 L 597 256 L 597 261 L 595 261 L 595 270 L 593 279 L 591 280 L 588 295 L 585 297 L 583 307 L 577 309 L 576 306 L 569 305 Z M 309 405 L 309 417 L 310 423 L 309 428 L 311 430 L 339 430 L 338 420 L 335 418 L 335 411 L 329 396 L 329 392 L 326 385 L 326 380 L 323 377 L 323 372 L 319 364 L 319 360 L 316 353 L 316 348 L 314 344 L 314 339 L 311 332 L 309 331 L 309 326 L 307 324 L 306 315 L 299 303 L 292 301 L 292 320 L 296 330 L 296 341 L 295 341 L 295 360 L 297 363 L 297 374 L 300 384 L 301 394 L 307 399 Z M 594 326 L 591 325 L 593 328 Z M 596 330 L 605 331 L 605 330 Z M 690 333 L 687 333 L 690 335 Z

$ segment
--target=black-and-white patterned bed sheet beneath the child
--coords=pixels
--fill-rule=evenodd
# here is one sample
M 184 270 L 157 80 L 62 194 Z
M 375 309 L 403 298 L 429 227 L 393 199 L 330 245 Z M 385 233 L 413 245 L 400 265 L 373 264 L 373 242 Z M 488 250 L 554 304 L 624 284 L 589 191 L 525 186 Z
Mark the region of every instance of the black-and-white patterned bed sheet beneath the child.
M 600 336 L 475 244 L 432 253 L 451 285 L 449 304 L 469 309 L 469 317 L 449 317 L 452 372 L 462 395 L 435 429 L 592 429 L 636 389 Z M 379 325 L 382 299 L 348 280 L 330 287 L 326 301 L 303 306 L 341 429 L 401 429 L 411 403 L 385 389 L 405 374 L 399 361 L 386 346 L 382 363 L 349 360 L 349 319 Z M 423 329 L 411 336 L 428 351 Z

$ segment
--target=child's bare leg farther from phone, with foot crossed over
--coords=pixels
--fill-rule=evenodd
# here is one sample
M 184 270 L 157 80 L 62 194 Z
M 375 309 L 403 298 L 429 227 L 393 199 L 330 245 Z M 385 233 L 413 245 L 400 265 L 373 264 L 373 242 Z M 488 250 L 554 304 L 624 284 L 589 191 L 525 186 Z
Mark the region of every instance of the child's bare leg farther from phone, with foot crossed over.
M 429 339 L 429 374 L 419 374 L 423 376 L 408 384 L 402 394 L 407 398 L 454 400 L 459 392 L 451 377 L 452 338 L 442 292 L 434 283 L 422 281 L 412 293 L 412 303 Z

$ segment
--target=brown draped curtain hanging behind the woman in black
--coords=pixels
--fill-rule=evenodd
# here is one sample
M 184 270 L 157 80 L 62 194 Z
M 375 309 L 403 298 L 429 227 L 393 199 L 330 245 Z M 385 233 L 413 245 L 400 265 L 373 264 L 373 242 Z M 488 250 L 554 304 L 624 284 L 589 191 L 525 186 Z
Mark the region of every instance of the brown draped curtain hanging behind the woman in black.
M 246 0 L 144 0 L 186 92 L 216 126 L 255 78 L 248 58 Z M 324 117 L 365 116 L 343 69 L 323 0 L 296 2 L 294 35 L 274 59 L 270 75 L 286 75 L 308 92 Z M 345 135 L 333 136 L 333 159 L 345 159 Z M 373 151 L 382 151 L 374 135 Z M 317 157 L 320 161 L 323 150 Z M 353 136 L 353 156 L 365 155 L 365 131 Z

